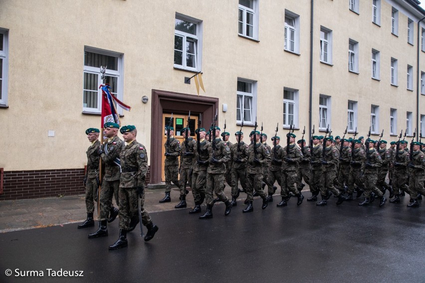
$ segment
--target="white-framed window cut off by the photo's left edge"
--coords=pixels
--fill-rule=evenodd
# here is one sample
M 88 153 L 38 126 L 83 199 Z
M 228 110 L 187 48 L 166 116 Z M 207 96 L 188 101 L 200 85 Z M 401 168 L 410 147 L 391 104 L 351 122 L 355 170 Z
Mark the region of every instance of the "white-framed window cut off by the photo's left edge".
M 8 31 L 0 28 L 0 105 L 7 106 Z

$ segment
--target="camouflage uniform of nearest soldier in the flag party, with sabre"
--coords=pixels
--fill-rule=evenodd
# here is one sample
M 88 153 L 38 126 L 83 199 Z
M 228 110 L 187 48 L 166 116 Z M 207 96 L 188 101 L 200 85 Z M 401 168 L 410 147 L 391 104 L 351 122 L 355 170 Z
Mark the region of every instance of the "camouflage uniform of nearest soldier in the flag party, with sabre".
M 130 220 L 138 218 L 138 201 L 141 195 L 140 211 L 142 214 L 142 223 L 147 226 L 151 223 L 151 217 L 143 207 L 145 203 L 145 179 L 148 172 L 148 154 L 146 147 L 134 140 L 127 144 L 120 154 L 121 160 L 121 178 L 120 178 L 120 229 L 128 230 Z M 137 188 L 142 188 L 141 194 Z M 140 190 L 140 189 L 139 189 Z

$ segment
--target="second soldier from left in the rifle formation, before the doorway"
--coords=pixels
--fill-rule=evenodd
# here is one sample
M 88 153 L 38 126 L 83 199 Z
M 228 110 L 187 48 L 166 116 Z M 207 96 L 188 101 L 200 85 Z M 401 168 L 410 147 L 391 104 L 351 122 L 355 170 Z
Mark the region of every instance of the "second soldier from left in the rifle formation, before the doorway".
M 174 208 L 185 208 L 186 204 L 186 183 L 192 186 L 192 171 L 194 166 L 194 147 L 196 146 L 196 140 L 191 137 L 191 129 L 188 128 L 188 138 L 186 140 L 186 128 L 182 129 L 183 141 L 182 148 L 180 151 L 180 198 L 181 201 Z M 187 144 L 186 144 L 187 143 Z

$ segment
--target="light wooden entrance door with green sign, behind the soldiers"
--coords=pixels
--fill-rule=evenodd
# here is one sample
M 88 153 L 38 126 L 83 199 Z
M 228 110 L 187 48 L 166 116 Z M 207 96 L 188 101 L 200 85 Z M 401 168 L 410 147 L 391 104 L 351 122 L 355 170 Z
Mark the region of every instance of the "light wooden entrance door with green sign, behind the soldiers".
M 164 144 L 167 142 L 167 131 L 165 131 L 165 127 L 170 125 L 171 113 L 163 113 L 162 115 L 162 129 L 164 129 L 163 141 L 162 141 L 162 160 L 161 160 L 161 178 L 162 181 L 165 181 L 165 173 L 164 173 L 164 163 L 165 163 L 165 146 Z M 198 125 L 198 117 L 191 115 L 191 121 L 189 122 L 189 129 L 191 129 L 191 137 L 196 138 L 195 129 Z M 173 114 L 173 120 L 171 121 L 171 126 L 174 128 L 174 138 L 180 141 L 180 144 L 185 140 L 183 138 L 182 129 L 188 126 L 188 116 L 187 115 L 176 115 Z

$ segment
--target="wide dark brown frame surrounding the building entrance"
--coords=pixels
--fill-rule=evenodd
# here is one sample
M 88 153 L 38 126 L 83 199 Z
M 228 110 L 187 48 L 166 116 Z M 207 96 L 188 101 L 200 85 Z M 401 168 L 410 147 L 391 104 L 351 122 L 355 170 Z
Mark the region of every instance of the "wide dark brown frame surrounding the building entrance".
M 176 93 L 162 90 L 152 90 L 152 111 L 151 111 L 151 167 L 150 183 L 161 182 L 161 152 L 163 138 L 163 113 L 176 113 L 187 115 L 189 110 L 191 115 L 202 114 L 202 127 L 209 128 L 213 122 L 215 109 L 218 108 L 218 98 L 197 96 L 184 93 Z M 218 123 L 218 121 L 217 121 Z

